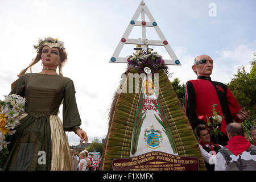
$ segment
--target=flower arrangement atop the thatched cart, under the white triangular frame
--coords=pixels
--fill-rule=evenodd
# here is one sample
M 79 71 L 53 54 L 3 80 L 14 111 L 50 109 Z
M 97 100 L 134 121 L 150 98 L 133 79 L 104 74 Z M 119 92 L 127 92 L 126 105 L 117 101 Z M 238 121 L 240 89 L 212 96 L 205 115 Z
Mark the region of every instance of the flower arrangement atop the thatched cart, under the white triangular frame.
M 133 55 L 128 56 L 127 59 L 129 67 L 137 70 L 139 73 L 144 73 L 144 68 L 148 67 L 151 69 L 151 73 L 158 73 L 160 69 L 168 73 L 167 65 L 164 63 L 162 56 L 157 52 L 153 52 L 152 49 L 147 51 L 137 51 Z

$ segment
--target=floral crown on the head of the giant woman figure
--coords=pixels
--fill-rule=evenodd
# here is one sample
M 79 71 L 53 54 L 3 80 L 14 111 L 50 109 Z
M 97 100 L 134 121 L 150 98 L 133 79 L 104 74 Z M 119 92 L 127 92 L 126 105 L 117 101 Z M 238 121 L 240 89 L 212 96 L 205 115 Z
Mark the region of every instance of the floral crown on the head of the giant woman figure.
M 42 49 L 43 46 L 49 46 L 49 47 L 58 47 L 60 49 L 63 49 L 65 52 L 64 42 L 60 41 L 59 39 L 53 39 L 50 36 L 48 38 L 39 39 L 38 44 L 34 45 L 34 48 L 36 49 L 36 52 L 39 53 L 39 50 Z

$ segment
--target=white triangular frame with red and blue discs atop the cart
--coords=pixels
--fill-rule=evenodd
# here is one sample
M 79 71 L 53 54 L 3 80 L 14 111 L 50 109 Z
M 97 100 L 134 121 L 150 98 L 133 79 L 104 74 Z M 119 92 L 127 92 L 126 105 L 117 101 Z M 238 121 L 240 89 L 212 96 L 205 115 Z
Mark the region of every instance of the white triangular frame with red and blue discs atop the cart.
M 137 21 L 139 14 L 141 14 L 142 21 Z M 145 14 L 147 15 L 150 22 L 145 22 Z M 142 24 L 143 23 L 143 24 Z M 146 24 L 145 24 L 146 23 Z M 142 27 L 142 39 L 128 39 L 131 30 L 133 30 L 134 26 L 141 26 Z M 147 40 L 146 39 L 146 27 L 154 27 L 156 33 L 158 34 L 160 40 Z M 164 63 L 167 65 L 181 65 L 180 61 L 177 59 L 174 51 L 172 50 L 170 43 L 167 42 L 166 38 L 163 35 L 163 32 L 160 30 L 158 24 L 155 22 L 152 14 L 148 10 L 146 4 L 142 0 L 136 10 L 133 18 L 131 19 L 128 27 L 126 28 L 125 33 L 122 36 L 122 39 L 118 43 L 117 48 L 109 60 L 109 63 L 127 63 L 127 57 L 119 57 L 120 52 L 125 44 L 141 44 L 142 50 L 145 51 L 147 49 L 147 45 L 151 46 L 164 46 L 166 51 L 171 57 L 171 60 L 164 59 Z

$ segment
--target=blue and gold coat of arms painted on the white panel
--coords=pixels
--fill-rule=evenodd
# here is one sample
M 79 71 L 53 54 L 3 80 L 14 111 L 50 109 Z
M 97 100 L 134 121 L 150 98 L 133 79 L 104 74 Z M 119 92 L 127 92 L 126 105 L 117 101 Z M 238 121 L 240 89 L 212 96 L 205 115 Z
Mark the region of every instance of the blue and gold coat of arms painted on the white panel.
M 147 143 L 147 147 L 155 149 L 160 147 L 160 143 L 163 143 L 163 136 L 160 130 L 155 130 L 152 125 L 150 130 L 144 131 L 144 140 Z

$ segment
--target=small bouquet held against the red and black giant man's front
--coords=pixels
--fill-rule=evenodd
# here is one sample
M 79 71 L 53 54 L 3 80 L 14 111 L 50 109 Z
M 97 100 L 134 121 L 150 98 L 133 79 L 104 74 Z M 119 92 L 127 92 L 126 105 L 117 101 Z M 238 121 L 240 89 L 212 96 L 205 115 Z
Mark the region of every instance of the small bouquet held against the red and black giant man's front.
M 213 109 L 212 109 L 212 115 L 208 118 L 207 116 L 207 125 L 209 126 L 210 130 L 210 136 L 217 137 L 218 134 L 223 136 L 223 134 L 220 131 L 220 125 L 222 118 L 225 118 L 223 115 L 220 116 L 218 115 L 220 111 L 216 110 L 217 104 L 213 104 Z

